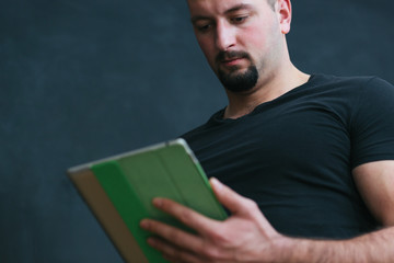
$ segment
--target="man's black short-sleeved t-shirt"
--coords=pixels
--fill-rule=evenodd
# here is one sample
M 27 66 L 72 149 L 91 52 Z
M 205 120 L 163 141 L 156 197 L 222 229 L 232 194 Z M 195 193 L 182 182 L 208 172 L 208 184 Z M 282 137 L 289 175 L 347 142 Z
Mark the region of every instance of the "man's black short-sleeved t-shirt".
M 394 160 L 393 85 L 314 75 L 243 117 L 223 112 L 183 137 L 208 176 L 254 199 L 279 232 L 339 239 L 379 227 L 351 170 Z

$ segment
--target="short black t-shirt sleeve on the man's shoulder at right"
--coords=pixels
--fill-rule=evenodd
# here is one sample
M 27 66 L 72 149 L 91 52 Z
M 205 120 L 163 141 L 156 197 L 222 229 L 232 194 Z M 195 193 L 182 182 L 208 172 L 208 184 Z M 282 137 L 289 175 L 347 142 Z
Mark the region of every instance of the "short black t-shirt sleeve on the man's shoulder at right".
M 394 87 L 379 78 L 366 81 L 350 127 L 352 168 L 394 160 Z

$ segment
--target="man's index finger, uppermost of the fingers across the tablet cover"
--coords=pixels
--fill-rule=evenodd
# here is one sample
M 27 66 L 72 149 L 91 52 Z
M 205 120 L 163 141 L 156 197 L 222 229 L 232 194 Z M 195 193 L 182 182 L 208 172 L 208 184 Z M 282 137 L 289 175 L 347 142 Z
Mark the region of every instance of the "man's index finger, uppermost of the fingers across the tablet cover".
M 201 214 L 183 206 L 174 201 L 165 198 L 154 198 L 153 205 L 164 213 L 173 216 L 185 226 L 196 230 L 201 236 L 213 232 L 219 228 L 219 221 L 202 216 Z

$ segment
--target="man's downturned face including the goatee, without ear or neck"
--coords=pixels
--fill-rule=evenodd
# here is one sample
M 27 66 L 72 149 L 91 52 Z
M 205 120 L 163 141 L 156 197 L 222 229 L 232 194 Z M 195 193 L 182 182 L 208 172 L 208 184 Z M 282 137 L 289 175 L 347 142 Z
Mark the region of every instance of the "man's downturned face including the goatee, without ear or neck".
M 252 90 L 275 72 L 283 28 L 267 0 L 188 0 L 188 5 L 197 41 L 228 90 Z

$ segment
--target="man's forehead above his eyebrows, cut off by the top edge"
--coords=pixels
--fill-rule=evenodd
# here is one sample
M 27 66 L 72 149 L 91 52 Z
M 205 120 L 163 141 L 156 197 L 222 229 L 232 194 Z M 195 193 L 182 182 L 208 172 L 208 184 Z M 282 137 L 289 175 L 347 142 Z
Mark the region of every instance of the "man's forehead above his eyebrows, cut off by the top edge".
M 234 7 L 257 8 L 267 0 L 187 0 L 190 15 L 222 14 Z

